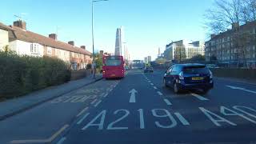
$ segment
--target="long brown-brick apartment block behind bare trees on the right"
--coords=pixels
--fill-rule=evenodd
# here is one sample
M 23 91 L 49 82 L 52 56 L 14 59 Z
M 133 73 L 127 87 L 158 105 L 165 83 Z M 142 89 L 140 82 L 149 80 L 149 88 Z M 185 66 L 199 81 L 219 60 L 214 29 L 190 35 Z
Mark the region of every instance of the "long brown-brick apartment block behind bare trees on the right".
M 243 42 L 242 46 L 236 45 L 238 42 L 235 35 L 236 30 L 240 30 L 240 33 L 249 34 L 250 40 L 243 38 L 240 43 L 248 42 Z M 206 42 L 206 61 L 218 61 L 223 65 L 235 67 L 242 65 L 242 62 L 246 60 L 247 66 L 256 68 L 255 36 L 256 21 L 246 22 L 242 26 L 236 22 L 233 23 L 232 29 L 220 34 L 212 34 L 210 40 Z

